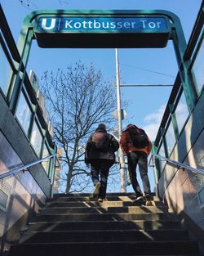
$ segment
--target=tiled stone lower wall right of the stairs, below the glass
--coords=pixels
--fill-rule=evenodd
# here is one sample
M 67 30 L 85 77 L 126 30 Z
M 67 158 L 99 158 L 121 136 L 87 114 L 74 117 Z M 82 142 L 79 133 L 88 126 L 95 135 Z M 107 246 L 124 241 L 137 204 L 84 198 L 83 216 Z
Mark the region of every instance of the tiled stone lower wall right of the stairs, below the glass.
M 171 155 L 171 159 L 201 169 L 204 169 L 203 110 L 204 93 Z M 158 182 L 158 191 L 204 246 L 204 176 L 166 165 Z

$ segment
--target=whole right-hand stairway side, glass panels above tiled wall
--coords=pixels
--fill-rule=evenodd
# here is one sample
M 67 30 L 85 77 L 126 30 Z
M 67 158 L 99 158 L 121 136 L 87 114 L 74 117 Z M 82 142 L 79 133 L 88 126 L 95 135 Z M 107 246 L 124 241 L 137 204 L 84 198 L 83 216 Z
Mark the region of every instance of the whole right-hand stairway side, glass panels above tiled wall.
M 154 153 L 204 170 L 204 6 L 166 105 Z M 184 65 L 183 65 L 184 64 Z M 182 80 L 185 74 L 190 83 Z M 186 93 L 186 88 L 191 95 Z M 157 193 L 204 246 L 204 175 L 155 158 Z M 203 172 L 204 173 L 204 172 Z

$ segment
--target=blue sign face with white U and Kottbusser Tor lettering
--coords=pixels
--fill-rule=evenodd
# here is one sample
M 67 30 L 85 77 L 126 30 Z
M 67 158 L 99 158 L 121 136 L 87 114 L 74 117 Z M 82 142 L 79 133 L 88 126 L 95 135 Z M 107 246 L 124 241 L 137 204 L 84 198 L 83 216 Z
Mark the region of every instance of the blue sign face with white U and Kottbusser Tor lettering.
M 51 33 L 160 33 L 168 29 L 164 17 L 41 17 L 38 31 Z

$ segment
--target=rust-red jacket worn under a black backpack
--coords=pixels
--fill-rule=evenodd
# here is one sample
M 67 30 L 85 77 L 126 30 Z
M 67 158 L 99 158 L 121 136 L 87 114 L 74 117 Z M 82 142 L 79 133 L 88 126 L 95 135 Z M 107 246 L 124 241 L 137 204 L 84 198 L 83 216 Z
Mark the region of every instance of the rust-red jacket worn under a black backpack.
M 137 148 L 133 146 L 131 142 L 131 136 L 128 130 L 122 132 L 121 140 L 120 140 L 120 146 L 122 148 L 122 151 L 127 155 L 131 151 L 143 151 L 147 155 L 150 154 L 152 150 L 152 142 L 149 140 L 149 146 L 144 146 L 143 148 Z

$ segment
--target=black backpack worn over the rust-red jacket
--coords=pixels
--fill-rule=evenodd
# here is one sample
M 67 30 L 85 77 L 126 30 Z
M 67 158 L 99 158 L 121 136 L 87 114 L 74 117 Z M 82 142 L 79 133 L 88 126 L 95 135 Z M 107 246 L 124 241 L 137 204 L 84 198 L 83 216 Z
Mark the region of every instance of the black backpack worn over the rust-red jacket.
M 140 132 L 137 132 L 135 128 L 128 129 L 133 146 L 138 148 L 149 146 L 149 139 L 147 134 L 144 132 L 143 129 L 138 128 L 138 130 L 140 130 Z

